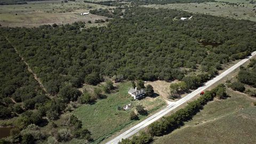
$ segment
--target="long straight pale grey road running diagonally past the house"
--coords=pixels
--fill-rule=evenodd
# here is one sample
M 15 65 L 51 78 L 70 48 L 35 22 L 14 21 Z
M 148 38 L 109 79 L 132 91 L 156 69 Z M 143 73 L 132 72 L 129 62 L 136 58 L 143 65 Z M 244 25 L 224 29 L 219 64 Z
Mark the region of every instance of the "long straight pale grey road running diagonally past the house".
M 256 55 L 256 51 L 252 53 L 252 56 Z M 166 115 L 167 113 L 170 113 L 170 111 L 172 111 L 173 109 L 179 107 L 180 105 L 182 105 L 183 103 L 189 101 L 191 98 L 195 97 L 197 94 L 201 93 L 202 91 L 204 91 L 205 89 L 207 89 L 208 87 L 210 87 L 211 85 L 213 85 L 214 83 L 218 82 L 221 78 L 227 76 L 229 73 L 231 73 L 232 71 L 234 71 L 236 68 L 238 68 L 239 66 L 243 65 L 246 61 L 248 61 L 249 59 L 252 58 L 252 56 L 243 59 L 241 61 L 239 61 L 238 63 L 236 63 L 236 65 L 232 66 L 231 68 L 227 69 L 226 71 L 224 71 L 223 73 L 221 73 L 220 75 L 218 75 L 217 77 L 214 77 L 213 79 L 211 79 L 210 81 L 208 81 L 207 83 L 205 83 L 204 86 L 199 87 L 198 89 L 196 89 L 195 91 L 189 93 L 188 95 L 186 95 L 185 97 L 183 97 L 182 99 L 170 103 L 166 108 L 164 108 L 163 110 L 159 111 L 158 113 L 148 117 L 147 119 L 145 119 L 144 121 L 140 122 L 139 124 L 133 126 L 131 129 L 125 131 L 124 133 L 118 135 L 116 138 L 108 141 L 106 144 L 112 144 L 112 143 L 118 143 L 119 141 L 121 141 L 122 139 L 126 139 L 131 137 L 133 134 L 139 132 L 140 130 L 142 130 L 143 128 L 145 128 L 146 126 L 148 126 L 149 124 L 157 121 L 157 119 L 163 117 L 164 115 Z

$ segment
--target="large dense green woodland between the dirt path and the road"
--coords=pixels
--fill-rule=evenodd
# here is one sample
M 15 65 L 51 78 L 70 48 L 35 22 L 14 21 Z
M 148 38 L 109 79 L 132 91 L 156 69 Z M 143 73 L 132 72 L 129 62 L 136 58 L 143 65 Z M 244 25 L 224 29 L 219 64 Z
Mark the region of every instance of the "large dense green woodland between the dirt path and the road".
M 202 14 L 194 14 L 188 21 L 174 19 L 190 15 L 135 7 L 125 10 L 123 19 L 111 20 L 108 27 L 1 29 L 51 94 L 67 84 L 96 85 L 104 75 L 120 74 L 129 80 L 183 79 L 188 89 L 195 89 L 217 74 L 223 63 L 242 58 L 233 55 L 254 51 L 256 36 L 251 21 Z M 202 42 L 220 45 L 204 46 Z M 199 68 L 203 75 L 185 77 L 186 68 Z

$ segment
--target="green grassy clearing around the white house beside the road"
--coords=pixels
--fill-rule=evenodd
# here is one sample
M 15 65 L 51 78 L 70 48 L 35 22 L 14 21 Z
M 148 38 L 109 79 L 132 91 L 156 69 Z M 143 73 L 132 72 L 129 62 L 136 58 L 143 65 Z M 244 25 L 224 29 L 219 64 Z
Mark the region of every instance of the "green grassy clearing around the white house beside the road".
M 95 143 L 110 137 L 126 126 L 137 123 L 138 121 L 130 120 L 130 113 L 136 105 L 144 106 L 149 114 L 166 105 L 161 97 L 133 101 L 127 93 L 131 86 L 131 82 L 121 83 L 118 85 L 118 91 L 108 94 L 106 99 L 98 100 L 94 105 L 83 105 L 74 111 L 82 121 L 83 127 L 92 132 Z M 132 103 L 132 109 L 126 111 L 117 109 L 118 106 L 123 107 L 129 103 Z M 145 118 L 146 116 L 140 116 L 141 120 Z

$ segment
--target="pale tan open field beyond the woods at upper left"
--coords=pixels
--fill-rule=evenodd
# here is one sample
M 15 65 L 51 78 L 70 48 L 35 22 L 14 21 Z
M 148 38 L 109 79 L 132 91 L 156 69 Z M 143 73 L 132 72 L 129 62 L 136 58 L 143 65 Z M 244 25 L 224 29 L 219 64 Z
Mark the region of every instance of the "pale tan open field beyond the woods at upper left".
M 110 9 L 111 6 L 84 3 L 83 1 L 61 3 L 61 1 L 28 2 L 22 5 L 0 5 L 0 24 L 9 27 L 34 27 L 53 23 L 65 24 L 75 21 L 106 19 L 99 15 L 79 15 L 91 9 Z M 17 14 L 17 15 L 16 15 Z M 103 23 L 102 23 L 103 24 Z M 89 25 L 90 23 L 87 23 Z M 97 24 L 98 26 L 98 24 Z

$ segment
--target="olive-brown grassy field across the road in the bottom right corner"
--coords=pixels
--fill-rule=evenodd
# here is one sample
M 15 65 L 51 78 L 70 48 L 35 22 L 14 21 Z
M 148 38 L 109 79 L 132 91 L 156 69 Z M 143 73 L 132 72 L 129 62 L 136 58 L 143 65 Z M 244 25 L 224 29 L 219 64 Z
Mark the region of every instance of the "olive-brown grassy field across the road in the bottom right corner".
M 154 143 L 255 143 L 256 101 L 227 90 L 230 98 L 208 103 L 193 120 Z

